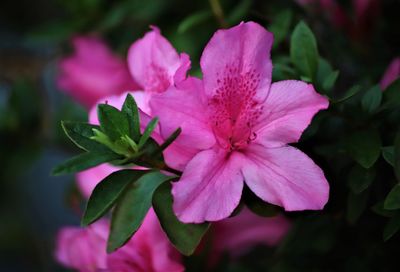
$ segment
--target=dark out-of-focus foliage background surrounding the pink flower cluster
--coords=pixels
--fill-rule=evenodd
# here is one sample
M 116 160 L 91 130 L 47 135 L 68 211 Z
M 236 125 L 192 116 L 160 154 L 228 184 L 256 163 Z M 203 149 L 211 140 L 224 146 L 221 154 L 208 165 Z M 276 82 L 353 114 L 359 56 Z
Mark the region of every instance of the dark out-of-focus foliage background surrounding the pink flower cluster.
M 338 2 L 348 14 L 354 13 L 351 1 Z M 85 119 L 84 111 L 65 96 L 52 98 L 54 75 L 44 76 L 46 65 L 69 52 L 71 37 L 94 33 L 125 55 L 149 25 L 156 25 L 178 51 L 191 55 L 192 73 L 198 75 L 201 52 L 218 28 L 254 20 L 275 34 L 273 80 L 311 81 L 330 98 L 330 109 L 316 116 L 296 144 L 324 170 L 330 200 L 322 212 L 287 213 L 294 226 L 279 248 L 255 248 L 236 260 L 226 257 L 216 271 L 398 271 L 400 83 L 383 93 L 377 83 L 390 60 L 400 55 L 399 2 L 381 1 L 375 24 L 360 37 L 294 1 L 219 3 L 222 13 L 201 0 L 0 3 L 0 220 L 8 222 L 1 224 L 2 251 L 15 246 L 21 254 L 35 252 L 40 242 L 21 235 L 28 235 L 21 226 L 24 220 L 15 218 L 23 215 L 9 208 L 20 200 L 13 182 L 28 172 L 42 149 L 70 149 L 58 120 Z M 304 36 L 310 41 L 310 33 L 316 44 L 296 45 Z M 301 46 L 309 47 L 312 56 L 298 52 Z M 7 58 L 14 47 L 21 48 L 22 61 Z M 43 57 L 45 49 L 49 52 Z M 38 55 L 45 66 L 31 65 L 34 61 L 26 57 Z M 311 70 L 301 66 L 304 58 L 312 58 Z M 21 67 L 30 73 L 20 72 Z M 40 258 L 32 254 L 32 266 L 37 267 Z M 187 258 L 188 271 L 204 271 L 204 258 L 206 253 Z

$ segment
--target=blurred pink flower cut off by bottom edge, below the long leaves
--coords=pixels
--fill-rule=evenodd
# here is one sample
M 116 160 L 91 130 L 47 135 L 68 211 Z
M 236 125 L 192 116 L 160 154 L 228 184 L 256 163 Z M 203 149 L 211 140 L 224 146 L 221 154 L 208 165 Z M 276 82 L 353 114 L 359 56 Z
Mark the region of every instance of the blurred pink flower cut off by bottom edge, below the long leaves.
M 66 227 L 59 232 L 56 258 L 66 267 L 81 272 L 183 271 L 180 255 L 162 232 L 153 210 L 122 248 L 106 254 L 109 223 L 98 221 L 86 229 Z

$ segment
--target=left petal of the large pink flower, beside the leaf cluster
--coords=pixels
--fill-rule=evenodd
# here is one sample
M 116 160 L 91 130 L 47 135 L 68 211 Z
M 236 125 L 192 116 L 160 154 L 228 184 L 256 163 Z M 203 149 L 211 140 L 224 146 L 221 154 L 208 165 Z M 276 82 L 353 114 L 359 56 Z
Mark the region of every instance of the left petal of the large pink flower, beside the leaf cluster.
M 201 88 L 200 80 L 188 78 L 179 88 L 172 86 L 168 91 L 151 98 L 152 115 L 160 118 L 161 136 L 166 138 L 178 127 L 182 129 L 173 147 L 166 150 L 178 156 L 174 161 L 169 159 L 173 159 L 173 155 L 166 155 L 171 167 L 182 169 L 195 153 L 215 144 L 206 109 L 199 98 Z

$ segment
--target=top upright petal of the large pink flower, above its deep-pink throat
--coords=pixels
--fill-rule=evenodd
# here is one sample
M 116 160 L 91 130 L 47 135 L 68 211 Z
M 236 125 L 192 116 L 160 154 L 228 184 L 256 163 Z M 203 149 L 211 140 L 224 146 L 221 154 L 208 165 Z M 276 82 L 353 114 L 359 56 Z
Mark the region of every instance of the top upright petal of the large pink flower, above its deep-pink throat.
M 226 88 L 252 92 L 263 101 L 271 84 L 273 36 L 254 22 L 218 30 L 201 56 L 204 90 L 212 98 Z

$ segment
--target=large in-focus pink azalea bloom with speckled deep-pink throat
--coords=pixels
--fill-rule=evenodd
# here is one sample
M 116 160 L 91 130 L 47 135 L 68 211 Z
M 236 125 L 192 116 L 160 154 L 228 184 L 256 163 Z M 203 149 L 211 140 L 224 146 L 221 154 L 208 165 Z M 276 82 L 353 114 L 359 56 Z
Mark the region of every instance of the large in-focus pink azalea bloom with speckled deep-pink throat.
M 154 95 L 161 135 L 177 127 L 174 211 L 183 222 L 218 221 L 238 205 L 243 182 L 261 199 L 287 211 L 322 209 L 329 185 L 299 140 L 328 100 L 311 84 L 271 84 L 272 34 L 254 22 L 217 31 L 201 57 L 203 81 L 189 78 Z

